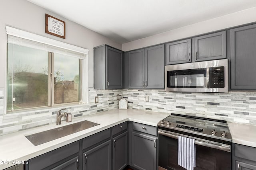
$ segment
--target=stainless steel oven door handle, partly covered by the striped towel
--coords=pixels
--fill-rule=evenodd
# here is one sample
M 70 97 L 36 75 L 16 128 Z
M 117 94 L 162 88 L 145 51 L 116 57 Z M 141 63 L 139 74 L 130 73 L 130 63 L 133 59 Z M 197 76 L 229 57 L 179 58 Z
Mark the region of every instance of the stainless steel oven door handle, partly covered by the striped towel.
M 167 137 L 171 137 L 171 138 L 174 138 L 174 139 L 178 139 L 177 135 L 173 135 L 171 133 L 165 133 L 165 132 L 162 132 L 162 131 L 158 131 L 158 134 L 164 135 L 164 136 L 167 136 Z M 206 142 L 202 142 L 202 141 L 198 141 L 198 140 L 195 140 L 195 144 L 196 145 L 201 145 L 201 146 L 204 146 L 204 147 L 209 147 L 209 148 L 214 148 L 214 149 L 219 149 L 219 150 L 223 150 L 223 151 L 226 151 L 226 152 L 230 152 L 230 147 L 222 147 L 222 146 L 218 146 L 218 145 L 214 145 L 214 144 L 211 144 L 211 143 L 206 143 Z

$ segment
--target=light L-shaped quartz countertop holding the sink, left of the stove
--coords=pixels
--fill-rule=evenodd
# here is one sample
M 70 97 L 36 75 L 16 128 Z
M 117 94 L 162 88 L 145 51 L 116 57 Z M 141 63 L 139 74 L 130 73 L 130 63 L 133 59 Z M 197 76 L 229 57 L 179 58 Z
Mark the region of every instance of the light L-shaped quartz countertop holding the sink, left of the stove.
M 2 135 L 0 136 L 0 169 L 2 170 L 4 168 L 15 165 L 14 162 L 16 162 L 17 160 L 29 160 L 31 158 L 68 145 L 72 142 L 78 141 L 80 139 L 83 139 L 84 137 L 88 137 L 125 121 L 133 121 L 156 127 L 157 123 L 168 115 L 170 114 L 135 109 L 114 109 L 110 111 L 104 111 L 102 113 L 88 115 L 82 118 L 74 118 L 72 122 L 68 123 L 66 121 L 63 121 L 62 125 L 51 124 L 43 127 L 20 131 L 17 133 Z M 62 127 L 71 123 L 76 123 L 78 121 L 84 120 L 92 121 L 100 125 L 73 133 L 71 135 L 67 135 L 65 137 L 61 137 L 59 139 L 55 139 L 53 141 L 38 146 L 34 146 L 25 137 L 26 135 L 54 129 L 56 127 Z

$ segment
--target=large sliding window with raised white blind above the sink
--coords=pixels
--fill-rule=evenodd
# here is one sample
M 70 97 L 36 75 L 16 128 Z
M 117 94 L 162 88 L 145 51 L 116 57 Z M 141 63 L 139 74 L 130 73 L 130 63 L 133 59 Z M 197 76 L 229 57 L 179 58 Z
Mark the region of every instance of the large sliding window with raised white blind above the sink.
M 82 102 L 84 54 L 8 35 L 7 111 Z

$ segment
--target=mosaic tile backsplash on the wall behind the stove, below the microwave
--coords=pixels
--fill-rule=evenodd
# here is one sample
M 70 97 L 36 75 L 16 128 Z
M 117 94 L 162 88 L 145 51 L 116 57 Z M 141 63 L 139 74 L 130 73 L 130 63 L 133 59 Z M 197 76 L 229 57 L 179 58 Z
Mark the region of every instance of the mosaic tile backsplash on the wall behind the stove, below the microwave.
M 228 93 L 165 92 L 123 90 L 128 107 L 148 111 L 179 113 L 256 125 L 256 92 Z M 145 102 L 149 96 L 149 102 Z

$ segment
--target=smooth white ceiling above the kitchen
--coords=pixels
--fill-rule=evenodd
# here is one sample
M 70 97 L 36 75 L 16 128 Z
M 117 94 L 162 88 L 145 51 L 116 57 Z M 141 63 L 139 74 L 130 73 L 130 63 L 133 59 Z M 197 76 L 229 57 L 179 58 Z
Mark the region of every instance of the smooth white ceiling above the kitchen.
M 256 0 L 28 0 L 118 43 L 256 6 Z

